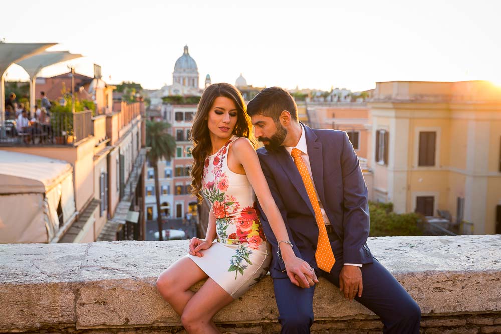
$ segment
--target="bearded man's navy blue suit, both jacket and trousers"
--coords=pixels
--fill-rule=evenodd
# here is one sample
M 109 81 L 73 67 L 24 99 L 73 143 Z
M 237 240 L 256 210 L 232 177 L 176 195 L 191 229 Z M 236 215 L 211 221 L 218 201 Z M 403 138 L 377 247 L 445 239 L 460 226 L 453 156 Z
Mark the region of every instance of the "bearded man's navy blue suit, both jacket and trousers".
M 290 154 L 257 150 L 261 168 L 284 219 L 296 256 L 308 262 L 317 276 L 339 286 L 343 263 L 363 264 L 362 297 L 355 298 L 381 317 L 385 332 L 418 333 L 419 306 L 393 276 L 373 258 L 369 236 L 367 186 L 346 132 L 304 126 L 313 182 L 334 232 L 329 234 L 336 263 L 331 272 L 318 269 L 315 250 L 318 226 L 301 175 Z M 279 308 L 282 332 L 308 333 L 313 323 L 313 292 L 293 285 L 284 262 L 276 256 L 277 240 L 261 207 L 261 223 L 273 249 L 270 274 Z

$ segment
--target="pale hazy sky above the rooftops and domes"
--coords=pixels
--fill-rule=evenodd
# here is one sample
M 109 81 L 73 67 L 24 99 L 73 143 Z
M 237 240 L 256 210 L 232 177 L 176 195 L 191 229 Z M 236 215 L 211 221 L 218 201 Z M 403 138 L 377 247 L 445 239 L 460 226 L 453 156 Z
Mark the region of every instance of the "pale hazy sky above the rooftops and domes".
M 0 39 L 58 42 L 49 50 L 103 79 L 172 83 L 185 44 L 203 85 L 351 90 L 377 81 L 491 80 L 501 85 L 501 1 L 2 1 Z M 10 13 L 10 14 L 8 14 Z M 42 76 L 66 72 L 52 66 Z M 109 79 L 111 76 L 111 80 Z M 19 66 L 7 80 L 27 79 Z

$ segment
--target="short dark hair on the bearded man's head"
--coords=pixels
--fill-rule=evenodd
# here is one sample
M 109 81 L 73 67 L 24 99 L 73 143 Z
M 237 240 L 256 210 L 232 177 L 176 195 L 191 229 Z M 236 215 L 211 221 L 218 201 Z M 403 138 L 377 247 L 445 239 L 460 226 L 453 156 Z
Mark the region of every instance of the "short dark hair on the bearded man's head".
M 282 111 L 287 110 L 291 118 L 298 121 L 298 107 L 291 94 L 280 87 L 262 89 L 247 105 L 247 114 L 271 117 L 279 120 Z

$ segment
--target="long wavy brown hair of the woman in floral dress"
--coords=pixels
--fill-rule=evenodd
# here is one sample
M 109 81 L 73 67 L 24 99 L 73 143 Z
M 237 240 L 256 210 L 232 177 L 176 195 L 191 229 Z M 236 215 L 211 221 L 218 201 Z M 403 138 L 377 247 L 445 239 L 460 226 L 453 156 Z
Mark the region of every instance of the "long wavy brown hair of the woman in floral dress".
M 191 177 L 193 178 L 191 181 L 191 194 L 196 196 L 199 202 L 203 200 L 201 195 L 203 163 L 212 151 L 207 118 L 214 100 L 220 96 L 233 101 L 238 111 L 233 135 L 248 138 L 254 148 L 257 147 L 256 139 L 251 130 L 250 116 L 247 115 L 247 107 L 240 91 L 235 86 L 226 83 L 212 84 L 207 87 L 202 94 L 200 103 L 198 103 L 189 138 L 193 142 L 191 154 L 194 160 L 191 168 Z

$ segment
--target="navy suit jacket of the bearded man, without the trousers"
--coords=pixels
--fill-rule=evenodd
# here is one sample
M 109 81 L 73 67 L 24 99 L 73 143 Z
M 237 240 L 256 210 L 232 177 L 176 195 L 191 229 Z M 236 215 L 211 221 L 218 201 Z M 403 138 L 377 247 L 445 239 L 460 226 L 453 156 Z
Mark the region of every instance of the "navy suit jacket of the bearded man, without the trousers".
M 372 263 L 366 241 L 369 207 L 358 157 L 344 131 L 304 126 L 313 182 L 323 208 L 342 243 L 344 263 Z M 284 219 L 296 256 L 316 267 L 318 226 L 301 175 L 284 147 L 277 152 L 257 150 L 261 168 Z M 267 240 L 272 244 L 270 274 L 285 278 L 285 265 L 277 253 L 277 240 L 258 206 Z

